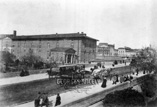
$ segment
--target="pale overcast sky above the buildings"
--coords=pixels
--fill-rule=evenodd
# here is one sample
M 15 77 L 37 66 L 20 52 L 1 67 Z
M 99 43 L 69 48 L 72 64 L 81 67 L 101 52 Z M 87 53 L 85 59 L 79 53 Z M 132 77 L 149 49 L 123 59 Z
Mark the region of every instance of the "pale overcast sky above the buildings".
M 142 48 L 157 40 L 154 1 L 1 0 L 0 34 L 85 32 L 116 48 Z

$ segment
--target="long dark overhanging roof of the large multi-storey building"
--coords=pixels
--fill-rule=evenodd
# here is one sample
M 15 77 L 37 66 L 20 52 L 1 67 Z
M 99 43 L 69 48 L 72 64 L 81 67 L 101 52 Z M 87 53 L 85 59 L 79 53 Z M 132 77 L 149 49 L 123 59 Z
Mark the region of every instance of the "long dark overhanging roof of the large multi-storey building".
M 12 40 L 43 40 L 43 39 L 65 39 L 65 38 L 87 38 L 98 41 L 97 39 L 86 36 L 85 33 L 67 33 L 67 34 L 43 34 L 43 35 L 19 35 L 12 36 Z

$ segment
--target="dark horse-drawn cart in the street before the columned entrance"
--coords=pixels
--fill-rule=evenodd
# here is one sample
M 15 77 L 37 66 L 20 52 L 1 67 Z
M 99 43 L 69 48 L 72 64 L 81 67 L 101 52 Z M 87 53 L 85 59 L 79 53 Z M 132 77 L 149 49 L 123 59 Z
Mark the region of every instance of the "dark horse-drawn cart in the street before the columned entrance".
M 54 68 L 52 70 L 48 70 L 47 73 L 49 78 L 52 76 L 60 79 L 62 81 L 61 85 L 67 88 L 67 86 L 76 85 L 81 82 L 81 80 L 84 78 L 84 72 L 81 71 L 82 67 L 80 68 L 80 66 L 77 64 L 72 64 L 58 66 L 58 68 L 55 68 L 55 70 Z

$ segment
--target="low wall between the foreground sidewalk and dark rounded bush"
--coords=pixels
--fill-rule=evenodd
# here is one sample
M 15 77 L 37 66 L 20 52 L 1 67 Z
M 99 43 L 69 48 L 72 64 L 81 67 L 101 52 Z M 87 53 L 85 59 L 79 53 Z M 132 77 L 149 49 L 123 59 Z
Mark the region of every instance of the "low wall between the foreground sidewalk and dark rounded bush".
M 82 106 L 88 107 L 94 103 L 97 103 L 97 102 L 103 100 L 104 97 L 111 92 L 115 92 L 117 90 L 123 90 L 123 89 L 129 88 L 129 87 L 133 87 L 139 83 L 142 83 L 146 79 L 146 76 L 148 76 L 148 75 L 144 75 L 139 78 L 133 79 L 132 82 L 124 82 L 124 83 L 118 84 L 112 88 L 106 89 L 104 91 L 95 93 L 93 95 L 90 95 L 85 98 L 71 102 L 69 104 L 63 105 L 63 107 L 82 107 Z

